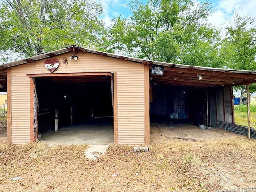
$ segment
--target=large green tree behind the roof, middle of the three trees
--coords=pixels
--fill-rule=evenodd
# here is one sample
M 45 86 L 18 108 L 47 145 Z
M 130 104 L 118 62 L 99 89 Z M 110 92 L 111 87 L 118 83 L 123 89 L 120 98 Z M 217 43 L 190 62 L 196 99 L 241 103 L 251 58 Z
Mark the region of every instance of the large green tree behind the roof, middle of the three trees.
M 191 0 L 133 1 L 130 19 L 115 18 L 108 51 L 129 56 L 199 66 L 216 66 L 218 31 L 206 24 L 208 2 Z

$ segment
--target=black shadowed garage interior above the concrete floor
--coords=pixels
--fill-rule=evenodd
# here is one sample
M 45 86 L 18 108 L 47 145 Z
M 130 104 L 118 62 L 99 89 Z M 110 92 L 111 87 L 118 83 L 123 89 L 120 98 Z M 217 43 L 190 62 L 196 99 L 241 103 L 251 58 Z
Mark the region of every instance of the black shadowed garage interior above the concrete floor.
M 58 128 L 88 124 L 113 127 L 110 76 L 34 78 L 38 100 L 38 133 L 54 130 L 55 111 Z M 72 128 L 71 126 L 71 128 Z M 113 132 L 113 128 L 112 128 Z

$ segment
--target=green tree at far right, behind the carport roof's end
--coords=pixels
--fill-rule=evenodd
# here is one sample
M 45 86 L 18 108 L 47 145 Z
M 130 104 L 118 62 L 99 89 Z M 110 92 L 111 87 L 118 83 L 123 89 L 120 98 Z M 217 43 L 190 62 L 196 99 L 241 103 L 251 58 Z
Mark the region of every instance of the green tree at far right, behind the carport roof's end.
M 250 27 L 254 24 L 254 18 L 250 16 L 241 17 L 234 13 L 232 26 L 226 27 L 226 38 L 222 41 L 222 56 L 227 68 L 238 70 L 256 70 L 256 28 Z M 250 92 L 255 92 L 255 84 L 250 85 Z M 240 104 L 246 90 L 246 86 L 234 87 L 241 90 Z

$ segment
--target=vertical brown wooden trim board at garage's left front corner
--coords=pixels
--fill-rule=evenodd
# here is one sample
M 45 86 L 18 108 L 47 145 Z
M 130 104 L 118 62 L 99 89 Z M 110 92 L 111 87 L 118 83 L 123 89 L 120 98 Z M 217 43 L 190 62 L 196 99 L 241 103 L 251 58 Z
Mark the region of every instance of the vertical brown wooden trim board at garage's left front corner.
M 7 69 L 7 143 L 12 143 L 12 68 Z

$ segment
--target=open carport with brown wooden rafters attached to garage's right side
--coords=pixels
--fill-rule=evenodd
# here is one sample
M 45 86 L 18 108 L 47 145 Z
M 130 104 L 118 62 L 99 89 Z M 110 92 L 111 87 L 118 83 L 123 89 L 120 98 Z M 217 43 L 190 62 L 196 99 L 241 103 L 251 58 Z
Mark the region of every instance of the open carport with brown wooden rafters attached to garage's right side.
M 247 85 L 249 96 L 249 84 L 256 81 L 255 71 L 162 62 L 148 64 L 152 122 L 171 120 L 190 122 L 196 126 L 202 124 L 211 128 L 228 126 L 235 132 L 236 129 L 241 129 L 234 125 L 233 86 Z M 248 105 L 248 132 L 251 130 L 249 111 Z

